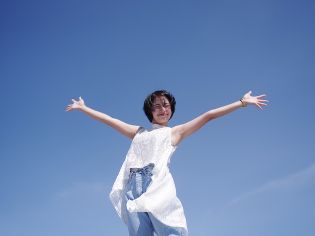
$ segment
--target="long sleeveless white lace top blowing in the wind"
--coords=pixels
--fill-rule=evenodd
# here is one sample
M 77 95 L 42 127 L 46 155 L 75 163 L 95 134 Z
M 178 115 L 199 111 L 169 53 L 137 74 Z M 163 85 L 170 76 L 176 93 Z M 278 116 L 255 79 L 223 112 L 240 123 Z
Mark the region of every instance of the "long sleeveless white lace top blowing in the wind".
M 121 210 L 123 190 L 131 168 L 154 164 L 153 176 L 147 191 L 135 200 L 128 200 L 130 212 L 151 212 L 162 223 L 182 227 L 188 235 L 184 209 L 176 196 L 173 177 L 169 171 L 170 159 L 176 150 L 171 141 L 171 128 L 153 124 L 151 129 L 141 129 L 134 137 L 109 195 L 118 215 L 126 223 Z

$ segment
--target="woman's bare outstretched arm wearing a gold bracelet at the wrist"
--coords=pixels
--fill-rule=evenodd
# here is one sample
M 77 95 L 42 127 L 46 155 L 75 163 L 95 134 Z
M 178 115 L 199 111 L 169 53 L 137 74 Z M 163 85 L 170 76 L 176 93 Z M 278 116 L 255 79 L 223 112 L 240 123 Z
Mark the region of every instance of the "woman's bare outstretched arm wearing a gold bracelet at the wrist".
M 260 96 L 251 96 L 252 91 L 249 91 L 243 96 L 243 101 L 246 105 L 255 105 L 260 110 L 263 110 L 261 106 L 267 106 L 268 100 L 261 100 L 262 97 L 266 96 L 265 94 Z M 209 110 L 204 114 L 198 116 L 196 119 L 185 123 L 183 125 L 176 126 L 172 128 L 172 141 L 177 146 L 183 139 L 188 137 L 189 135 L 195 133 L 201 127 L 203 127 L 209 121 L 226 115 L 238 108 L 243 107 L 244 104 L 241 100 L 235 101 L 231 104 L 221 106 L 219 108 Z

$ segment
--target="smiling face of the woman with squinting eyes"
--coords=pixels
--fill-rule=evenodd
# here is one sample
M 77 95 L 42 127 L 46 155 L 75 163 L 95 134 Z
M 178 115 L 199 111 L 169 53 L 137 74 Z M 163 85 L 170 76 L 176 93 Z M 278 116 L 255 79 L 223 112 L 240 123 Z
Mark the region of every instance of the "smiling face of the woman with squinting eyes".
M 172 110 L 169 100 L 166 97 L 156 97 L 153 101 L 152 107 L 152 124 L 161 126 L 168 126 L 168 121 L 171 119 Z

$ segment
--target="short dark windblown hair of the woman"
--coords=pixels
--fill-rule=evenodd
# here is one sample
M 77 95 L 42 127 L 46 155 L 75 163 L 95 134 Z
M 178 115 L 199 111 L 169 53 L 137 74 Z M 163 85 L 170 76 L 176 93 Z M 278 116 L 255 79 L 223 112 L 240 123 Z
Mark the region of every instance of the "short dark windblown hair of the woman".
M 149 121 L 152 123 L 152 120 L 153 120 L 152 104 L 156 97 L 160 97 L 162 101 L 164 100 L 163 97 L 166 97 L 169 100 L 171 104 L 171 109 L 172 109 L 172 114 L 170 117 L 171 119 L 175 112 L 176 101 L 175 101 L 175 97 L 166 90 L 158 90 L 158 91 L 152 92 L 150 95 L 148 95 L 145 98 L 144 103 L 143 103 L 143 110 L 147 119 L 149 119 Z

